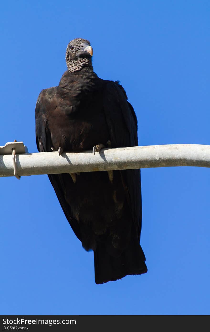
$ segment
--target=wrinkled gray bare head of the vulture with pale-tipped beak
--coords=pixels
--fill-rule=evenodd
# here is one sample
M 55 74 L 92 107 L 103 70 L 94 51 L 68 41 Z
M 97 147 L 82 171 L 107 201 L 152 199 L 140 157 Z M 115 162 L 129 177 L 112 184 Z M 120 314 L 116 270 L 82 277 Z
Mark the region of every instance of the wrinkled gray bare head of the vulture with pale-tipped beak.
M 81 70 L 84 67 L 93 69 L 92 57 L 93 48 L 90 41 L 76 38 L 68 43 L 66 49 L 66 64 L 70 73 Z

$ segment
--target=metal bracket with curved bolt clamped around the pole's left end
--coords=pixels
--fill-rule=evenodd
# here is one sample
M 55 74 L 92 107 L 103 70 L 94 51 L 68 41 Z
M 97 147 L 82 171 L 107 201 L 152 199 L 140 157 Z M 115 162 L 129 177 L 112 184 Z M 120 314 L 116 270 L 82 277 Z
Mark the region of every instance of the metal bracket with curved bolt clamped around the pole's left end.
M 15 155 L 21 153 L 28 153 L 28 148 L 23 144 L 23 142 L 8 142 L 4 146 L 0 146 L 0 154 L 12 154 L 12 162 L 13 162 L 13 169 L 15 177 L 20 180 L 20 176 L 17 174 L 16 169 L 16 159 Z

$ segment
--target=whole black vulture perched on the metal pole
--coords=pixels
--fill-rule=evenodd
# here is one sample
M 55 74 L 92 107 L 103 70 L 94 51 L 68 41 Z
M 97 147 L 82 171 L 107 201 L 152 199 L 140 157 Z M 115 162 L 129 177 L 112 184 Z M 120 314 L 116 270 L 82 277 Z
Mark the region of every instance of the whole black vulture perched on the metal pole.
M 69 42 L 60 83 L 40 92 L 35 108 L 39 152 L 137 146 L 137 118 L 118 81 L 93 71 L 93 48 Z M 95 282 L 147 272 L 139 244 L 140 170 L 48 175 L 63 212 L 87 251 L 94 251 Z

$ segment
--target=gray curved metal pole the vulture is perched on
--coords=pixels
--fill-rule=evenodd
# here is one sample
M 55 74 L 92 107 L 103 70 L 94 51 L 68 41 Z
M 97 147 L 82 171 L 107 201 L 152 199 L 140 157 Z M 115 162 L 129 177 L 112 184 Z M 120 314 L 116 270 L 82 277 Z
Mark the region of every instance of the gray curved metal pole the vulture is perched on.
M 198 166 L 210 167 L 210 145 L 170 144 L 62 153 L 16 154 L 19 176 L 119 169 Z M 0 155 L 0 177 L 14 176 L 11 154 Z

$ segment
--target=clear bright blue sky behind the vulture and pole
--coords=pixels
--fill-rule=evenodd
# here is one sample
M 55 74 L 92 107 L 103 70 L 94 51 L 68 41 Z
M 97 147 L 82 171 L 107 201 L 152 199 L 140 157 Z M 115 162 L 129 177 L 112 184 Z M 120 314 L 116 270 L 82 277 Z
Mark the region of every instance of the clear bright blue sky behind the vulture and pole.
M 139 145 L 210 144 L 209 1 L 10 1 L 1 5 L 0 145 L 35 144 L 35 103 L 91 41 L 94 70 L 120 80 Z M 3 315 L 209 314 L 209 169 L 142 170 L 148 273 L 96 285 L 93 252 L 69 226 L 47 175 L 1 178 Z

